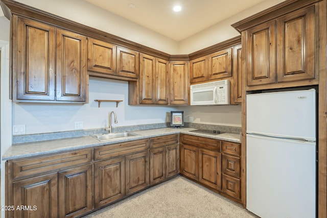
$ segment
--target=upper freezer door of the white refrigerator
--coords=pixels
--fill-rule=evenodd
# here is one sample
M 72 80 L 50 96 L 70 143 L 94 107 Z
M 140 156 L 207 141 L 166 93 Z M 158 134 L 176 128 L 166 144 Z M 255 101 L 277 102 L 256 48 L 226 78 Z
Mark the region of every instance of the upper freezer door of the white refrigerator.
M 246 132 L 316 139 L 316 91 L 246 95 Z

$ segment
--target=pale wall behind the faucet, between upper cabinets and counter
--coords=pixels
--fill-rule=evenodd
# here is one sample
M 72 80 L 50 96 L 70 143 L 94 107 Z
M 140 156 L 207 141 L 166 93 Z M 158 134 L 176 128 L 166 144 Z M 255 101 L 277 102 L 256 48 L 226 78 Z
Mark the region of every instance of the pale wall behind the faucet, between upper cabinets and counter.
M 103 102 L 100 108 L 94 100 L 123 100 Z M 176 107 L 175 107 L 176 109 Z M 90 77 L 89 104 L 31 104 L 13 103 L 13 125 L 26 125 L 26 134 L 74 130 L 75 122 L 84 129 L 104 128 L 108 113 L 115 111 L 118 124 L 113 127 L 166 123 L 169 106 L 129 106 L 128 82 Z

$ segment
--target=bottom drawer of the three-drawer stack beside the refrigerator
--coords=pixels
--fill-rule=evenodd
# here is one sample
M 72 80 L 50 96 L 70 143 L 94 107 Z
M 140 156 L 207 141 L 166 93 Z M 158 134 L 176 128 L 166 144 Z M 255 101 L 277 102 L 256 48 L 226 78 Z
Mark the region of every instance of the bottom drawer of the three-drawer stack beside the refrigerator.
M 239 179 L 222 175 L 221 191 L 230 197 L 241 199 L 241 181 Z

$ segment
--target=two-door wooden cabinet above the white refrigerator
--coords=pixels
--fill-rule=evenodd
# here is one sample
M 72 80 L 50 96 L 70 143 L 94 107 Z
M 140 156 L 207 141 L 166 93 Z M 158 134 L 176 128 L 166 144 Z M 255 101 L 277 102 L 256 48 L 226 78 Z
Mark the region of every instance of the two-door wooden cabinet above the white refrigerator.
M 312 5 L 242 32 L 247 90 L 318 84 L 316 11 Z

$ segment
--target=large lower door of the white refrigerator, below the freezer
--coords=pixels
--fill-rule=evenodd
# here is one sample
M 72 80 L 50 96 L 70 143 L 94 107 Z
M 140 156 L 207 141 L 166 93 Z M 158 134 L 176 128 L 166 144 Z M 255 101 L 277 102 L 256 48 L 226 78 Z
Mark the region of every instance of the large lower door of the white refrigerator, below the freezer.
M 315 143 L 246 136 L 246 207 L 263 218 L 316 215 Z

